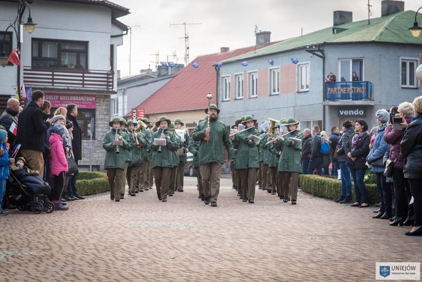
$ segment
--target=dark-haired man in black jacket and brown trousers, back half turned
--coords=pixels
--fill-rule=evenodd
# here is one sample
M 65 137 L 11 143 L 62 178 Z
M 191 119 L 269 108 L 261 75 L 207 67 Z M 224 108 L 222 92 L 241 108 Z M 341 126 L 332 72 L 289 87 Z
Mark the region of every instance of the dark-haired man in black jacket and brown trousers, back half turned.
M 41 90 L 32 92 L 32 101 L 19 116 L 19 126 L 16 134 L 16 143 L 20 143 L 20 152 L 28 165 L 44 175 L 44 134 L 52 124 L 52 119 L 43 121 L 41 107 L 46 95 Z

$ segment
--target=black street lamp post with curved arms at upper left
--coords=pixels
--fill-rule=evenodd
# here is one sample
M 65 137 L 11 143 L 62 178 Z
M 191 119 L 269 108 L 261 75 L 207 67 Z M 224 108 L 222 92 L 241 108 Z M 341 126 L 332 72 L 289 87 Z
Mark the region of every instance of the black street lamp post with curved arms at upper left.
M 25 12 L 25 8 L 28 7 L 28 11 L 29 11 L 29 15 L 28 18 L 26 20 L 26 23 L 22 23 L 22 16 L 23 13 Z M 21 47 L 21 32 L 20 32 L 20 26 L 23 25 L 25 26 L 25 30 L 28 33 L 32 33 L 35 29 L 35 25 L 36 23 L 34 23 L 32 21 L 32 17 L 31 17 L 31 8 L 28 4 L 28 2 L 26 2 L 25 0 L 18 0 L 18 7 L 17 7 L 17 14 L 16 14 L 16 18 L 13 21 L 13 23 L 10 23 L 9 26 L 6 28 L 6 30 L 4 31 L 4 35 L 3 35 L 3 41 L 2 41 L 2 48 L 1 48 L 1 52 L 0 52 L 0 65 L 2 67 L 5 67 L 8 63 L 8 56 L 6 54 L 6 52 L 4 51 L 4 40 L 6 38 L 6 33 L 7 30 L 9 30 L 9 28 L 13 29 L 16 35 L 16 47 L 17 50 L 20 51 L 20 47 Z M 10 49 L 13 50 L 12 45 L 10 45 Z M 20 66 L 17 66 L 17 79 L 16 79 L 16 85 L 17 85 L 17 92 L 18 92 L 18 96 L 19 96 L 19 100 L 21 98 L 21 92 L 20 92 Z

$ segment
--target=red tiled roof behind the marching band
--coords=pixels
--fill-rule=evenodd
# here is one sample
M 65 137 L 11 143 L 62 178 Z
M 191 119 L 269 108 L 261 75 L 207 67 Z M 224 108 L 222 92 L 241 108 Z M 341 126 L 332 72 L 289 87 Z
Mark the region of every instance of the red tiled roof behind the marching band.
M 265 47 L 274 43 L 271 42 Z M 208 93 L 212 94 L 211 104 L 216 104 L 216 73 L 213 64 L 254 51 L 254 49 L 255 46 L 251 46 L 224 53 L 198 56 L 193 60 L 198 62 L 198 68 L 194 68 L 192 63 L 188 64 L 136 108 L 144 109 L 146 115 L 201 110 L 208 106 Z

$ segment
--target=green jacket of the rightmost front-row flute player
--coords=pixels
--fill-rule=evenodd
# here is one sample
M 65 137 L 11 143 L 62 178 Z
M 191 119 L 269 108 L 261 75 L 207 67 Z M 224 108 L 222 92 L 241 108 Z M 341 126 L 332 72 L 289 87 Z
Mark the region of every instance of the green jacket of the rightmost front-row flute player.
M 289 137 L 295 137 L 300 141 L 295 141 L 292 146 L 292 141 Z M 280 160 L 278 162 L 278 171 L 299 172 L 302 173 L 301 151 L 302 151 L 302 133 L 294 131 L 290 134 L 284 135 L 284 141 L 281 139 L 275 143 L 275 148 L 281 151 Z

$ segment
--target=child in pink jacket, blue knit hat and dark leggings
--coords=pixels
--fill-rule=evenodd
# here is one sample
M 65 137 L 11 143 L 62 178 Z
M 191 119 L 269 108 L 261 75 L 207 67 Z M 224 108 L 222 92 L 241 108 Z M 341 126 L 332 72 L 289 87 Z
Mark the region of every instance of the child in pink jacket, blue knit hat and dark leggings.
M 53 127 L 52 135 L 50 136 L 50 151 L 51 164 L 50 172 L 53 174 L 54 188 L 53 188 L 53 203 L 55 211 L 66 211 L 69 208 L 62 205 L 60 202 L 60 195 L 64 188 L 64 179 L 67 172 L 67 161 L 64 156 L 63 137 L 65 128 L 61 124 L 56 124 Z

